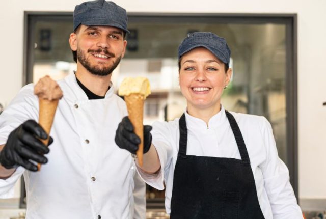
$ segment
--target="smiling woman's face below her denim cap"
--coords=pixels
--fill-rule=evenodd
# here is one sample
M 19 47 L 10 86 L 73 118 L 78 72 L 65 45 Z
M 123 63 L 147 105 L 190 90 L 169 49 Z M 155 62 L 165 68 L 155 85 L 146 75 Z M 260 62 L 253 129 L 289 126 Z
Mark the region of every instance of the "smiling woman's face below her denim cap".
M 180 59 L 179 83 L 189 109 L 220 107 L 224 86 L 229 84 L 232 70 L 208 49 L 197 47 Z

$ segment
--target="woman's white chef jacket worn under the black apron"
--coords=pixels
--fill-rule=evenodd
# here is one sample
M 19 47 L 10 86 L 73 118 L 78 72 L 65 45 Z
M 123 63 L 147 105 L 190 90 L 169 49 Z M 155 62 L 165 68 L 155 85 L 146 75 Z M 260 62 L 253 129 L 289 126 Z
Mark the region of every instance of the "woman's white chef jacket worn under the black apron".
M 208 123 L 190 116 L 186 111 L 188 130 L 187 155 L 229 157 L 241 159 L 224 107 Z M 254 174 L 258 201 L 265 219 L 303 218 L 289 182 L 288 169 L 278 157 L 273 131 L 269 122 L 260 116 L 231 112 L 241 130 Z M 149 175 L 137 168 L 141 177 L 157 189 L 166 184 L 165 206 L 170 214 L 174 168 L 179 150 L 179 119 L 155 122 L 153 130 L 161 171 Z

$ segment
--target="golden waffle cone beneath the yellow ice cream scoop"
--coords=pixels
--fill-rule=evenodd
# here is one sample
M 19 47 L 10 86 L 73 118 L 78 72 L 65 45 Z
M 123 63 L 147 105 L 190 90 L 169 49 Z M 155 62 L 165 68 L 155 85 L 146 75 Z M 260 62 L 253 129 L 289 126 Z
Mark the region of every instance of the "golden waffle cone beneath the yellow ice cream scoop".
M 138 163 L 143 166 L 143 151 L 144 151 L 144 127 L 143 127 L 143 115 L 144 115 L 144 101 L 143 94 L 130 94 L 124 96 L 124 100 L 127 104 L 128 117 L 133 125 L 134 132 L 141 139 L 141 143 L 138 146 L 136 152 L 138 157 Z

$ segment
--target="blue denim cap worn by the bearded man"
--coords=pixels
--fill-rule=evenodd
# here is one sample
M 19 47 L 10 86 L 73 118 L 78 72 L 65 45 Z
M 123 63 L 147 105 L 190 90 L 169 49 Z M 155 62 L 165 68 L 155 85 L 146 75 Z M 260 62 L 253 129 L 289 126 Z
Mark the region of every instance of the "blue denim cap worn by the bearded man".
M 114 2 L 105 0 L 84 2 L 75 7 L 73 12 L 73 31 L 76 31 L 80 24 L 86 26 L 114 26 L 126 33 L 127 12 Z

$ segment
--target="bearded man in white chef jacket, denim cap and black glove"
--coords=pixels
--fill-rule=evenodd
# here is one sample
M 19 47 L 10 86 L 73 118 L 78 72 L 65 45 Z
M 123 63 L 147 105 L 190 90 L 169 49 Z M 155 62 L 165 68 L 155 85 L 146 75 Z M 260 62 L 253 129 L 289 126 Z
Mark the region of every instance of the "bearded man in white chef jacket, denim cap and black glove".
M 23 174 L 26 218 L 145 218 L 145 184 L 130 153 L 114 142 L 127 115 L 110 83 L 126 49 L 126 11 L 104 0 L 85 2 L 76 6 L 73 22 L 69 43 L 77 70 L 58 81 L 64 97 L 50 147 L 39 141 L 47 134 L 36 122 L 32 84 L 0 116 L 0 197 L 10 197 Z M 46 163 L 39 172 L 36 162 Z

